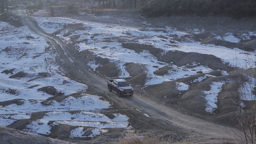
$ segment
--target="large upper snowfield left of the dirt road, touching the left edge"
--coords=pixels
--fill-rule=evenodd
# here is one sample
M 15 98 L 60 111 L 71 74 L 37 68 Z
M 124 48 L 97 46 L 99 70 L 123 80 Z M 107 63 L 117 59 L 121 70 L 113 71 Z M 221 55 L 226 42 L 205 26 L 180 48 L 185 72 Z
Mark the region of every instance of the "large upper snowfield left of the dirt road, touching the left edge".
M 14 69 L 12 73 L 0 73 L 0 101 L 52 97 L 37 90 L 45 86 L 54 86 L 65 95 L 87 89 L 86 85 L 63 76 L 52 47 L 28 27 L 16 28 L 0 22 L 0 33 L 0 71 Z M 9 78 L 18 72 L 25 75 Z

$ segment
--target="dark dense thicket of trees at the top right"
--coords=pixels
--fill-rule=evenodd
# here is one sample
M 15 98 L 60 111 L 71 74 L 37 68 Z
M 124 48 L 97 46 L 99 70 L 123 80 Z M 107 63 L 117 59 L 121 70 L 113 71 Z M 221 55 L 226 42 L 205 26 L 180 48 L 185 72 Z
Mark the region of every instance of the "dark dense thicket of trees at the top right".
M 147 16 L 198 15 L 256 16 L 256 0 L 150 0 L 142 12 Z

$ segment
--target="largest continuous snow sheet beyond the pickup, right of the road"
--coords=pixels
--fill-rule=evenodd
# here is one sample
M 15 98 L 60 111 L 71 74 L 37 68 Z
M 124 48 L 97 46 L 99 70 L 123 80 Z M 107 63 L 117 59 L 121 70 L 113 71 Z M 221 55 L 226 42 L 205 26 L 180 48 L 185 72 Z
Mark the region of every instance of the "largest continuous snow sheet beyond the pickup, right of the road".
M 246 65 L 245 59 L 247 59 L 247 61 L 249 62 L 255 61 L 252 52 L 246 52 L 240 49 L 229 49 L 223 46 L 214 45 L 202 45 L 194 41 L 174 41 L 176 46 L 172 46 L 168 41 L 172 40 L 173 37 L 190 34 L 186 32 L 180 32 L 172 28 L 146 28 L 144 30 L 141 30 L 140 28 L 135 27 L 122 27 L 119 25 L 85 22 L 68 18 L 34 18 L 43 28 L 43 30 L 47 31 L 48 33 L 53 33 L 61 30 L 58 36 L 63 37 L 65 40 L 71 41 L 70 38 L 72 36 L 78 37 L 75 41 L 87 40 L 86 42 L 82 43 L 77 42 L 74 46 L 77 48 L 77 50 L 79 50 L 79 52 L 83 50 L 89 50 L 91 52 L 94 52 L 95 55 L 98 55 L 102 58 L 108 58 L 111 62 L 116 63 L 121 70 L 119 77 L 130 76 L 124 66 L 127 62 L 146 64 L 147 82 L 145 85 L 155 85 L 164 81 L 176 80 L 195 74 L 197 71 L 206 72 L 211 71 L 211 69 L 201 65 L 200 67 L 195 68 L 196 71 L 191 71 L 191 69 L 186 68 L 186 65 L 183 67 L 177 67 L 176 65 L 169 66 L 170 64 L 159 64 L 159 61 L 147 50 L 137 53 L 134 50 L 122 48 L 122 43 L 119 42 L 118 39 L 113 39 L 110 42 L 104 42 L 106 39 L 109 39 L 111 37 L 119 37 L 120 39 L 125 39 L 127 42 L 134 41 L 140 44 L 152 45 L 155 48 L 160 48 L 164 50 L 164 53 L 168 50 L 180 50 L 183 52 L 210 54 L 221 58 L 223 60 L 223 63 L 229 62 L 230 65 L 238 65 L 240 67 L 244 67 Z M 53 24 L 52 27 L 49 27 L 49 23 Z M 68 25 L 71 24 L 82 24 L 85 30 L 73 31 L 67 28 Z M 66 28 L 63 29 L 64 26 L 66 26 Z M 72 32 L 72 34 L 67 34 L 68 31 Z M 65 34 L 67 34 L 68 36 L 66 36 Z M 63 35 L 65 35 L 65 37 Z M 89 62 L 88 64 L 92 67 L 93 70 L 101 66 L 96 64 L 94 61 Z M 172 67 L 175 70 L 170 71 L 169 74 L 166 74 L 164 76 L 157 76 L 153 74 L 154 71 L 164 66 Z

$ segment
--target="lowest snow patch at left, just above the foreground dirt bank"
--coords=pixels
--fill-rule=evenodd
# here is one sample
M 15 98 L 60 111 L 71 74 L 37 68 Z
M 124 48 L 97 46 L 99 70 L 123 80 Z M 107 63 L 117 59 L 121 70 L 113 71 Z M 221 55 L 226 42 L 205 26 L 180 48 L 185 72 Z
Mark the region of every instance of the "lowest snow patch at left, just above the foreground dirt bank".
M 55 121 L 52 125 L 47 125 L 50 121 Z M 40 123 L 40 124 L 38 124 Z M 43 124 L 42 124 L 43 123 Z M 92 112 L 48 112 L 42 119 L 35 120 L 24 131 L 33 132 L 36 134 L 51 134 L 51 128 L 54 125 L 72 125 L 72 126 L 86 126 L 92 127 L 91 135 L 87 137 L 95 137 L 101 133 L 108 132 L 107 128 L 127 128 L 128 117 L 122 114 L 115 114 L 115 118 L 110 119 L 104 114 L 92 113 Z M 79 127 L 81 129 L 81 127 Z M 73 129 L 70 132 L 70 137 L 82 137 L 85 131 L 79 131 L 80 129 Z M 80 133 L 77 134 L 77 133 Z

